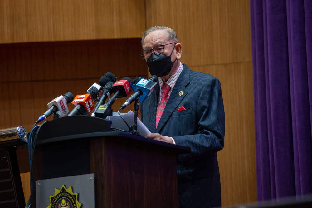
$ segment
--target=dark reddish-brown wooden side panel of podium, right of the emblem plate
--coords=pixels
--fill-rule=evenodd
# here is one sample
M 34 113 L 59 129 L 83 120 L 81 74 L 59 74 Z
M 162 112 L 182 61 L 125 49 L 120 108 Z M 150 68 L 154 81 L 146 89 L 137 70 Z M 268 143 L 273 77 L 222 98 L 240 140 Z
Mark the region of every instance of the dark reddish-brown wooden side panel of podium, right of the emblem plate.
M 90 161 L 91 172 L 97 176 L 98 207 L 178 207 L 173 152 L 116 137 L 94 138 Z

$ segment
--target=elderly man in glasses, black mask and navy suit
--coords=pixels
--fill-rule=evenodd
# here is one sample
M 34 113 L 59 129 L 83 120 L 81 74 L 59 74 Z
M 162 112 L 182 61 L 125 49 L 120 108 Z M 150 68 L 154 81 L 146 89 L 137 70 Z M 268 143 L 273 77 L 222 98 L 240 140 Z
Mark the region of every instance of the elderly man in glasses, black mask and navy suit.
M 224 145 L 221 84 L 180 62 L 182 45 L 168 27 L 146 30 L 142 47 L 149 72 L 159 77 L 141 104 L 141 120 L 152 132 L 146 137 L 191 147 L 191 153 L 177 157 L 179 207 L 221 206 L 217 161 L 217 151 Z

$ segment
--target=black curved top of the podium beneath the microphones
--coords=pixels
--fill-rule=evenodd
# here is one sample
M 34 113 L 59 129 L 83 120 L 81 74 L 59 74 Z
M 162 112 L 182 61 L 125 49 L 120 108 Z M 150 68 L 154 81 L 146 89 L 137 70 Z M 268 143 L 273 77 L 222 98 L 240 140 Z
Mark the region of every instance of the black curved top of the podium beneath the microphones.
M 136 136 L 126 132 L 111 131 L 111 121 L 91 116 L 67 116 L 53 121 L 46 121 L 38 129 L 37 145 L 72 139 L 105 137 L 116 138 L 119 141 L 152 145 L 177 154 L 189 153 L 189 146 L 179 146 L 163 141 L 156 141 Z

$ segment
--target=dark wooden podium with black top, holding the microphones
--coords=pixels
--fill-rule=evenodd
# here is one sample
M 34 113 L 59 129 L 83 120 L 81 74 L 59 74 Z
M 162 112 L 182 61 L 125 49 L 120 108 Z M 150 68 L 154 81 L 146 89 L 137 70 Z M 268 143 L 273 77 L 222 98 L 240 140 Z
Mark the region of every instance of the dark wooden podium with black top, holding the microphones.
M 178 208 L 176 156 L 189 151 L 110 131 L 104 119 L 68 116 L 38 130 L 34 179 L 94 173 L 95 207 Z

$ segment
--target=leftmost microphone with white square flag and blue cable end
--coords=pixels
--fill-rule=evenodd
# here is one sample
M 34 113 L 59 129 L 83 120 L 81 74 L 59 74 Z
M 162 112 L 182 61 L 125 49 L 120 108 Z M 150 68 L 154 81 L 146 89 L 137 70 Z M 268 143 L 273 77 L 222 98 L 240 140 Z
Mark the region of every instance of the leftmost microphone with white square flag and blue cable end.
M 57 113 L 61 117 L 65 116 L 69 112 L 67 104 L 70 103 L 73 99 L 74 95 L 71 92 L 67 92 L 60 97 L 56 97 L 47 104 L 49 110 L 43 113 L 43 115 L 40 116 L 35 123 L 37 124 L 55 113 Z

